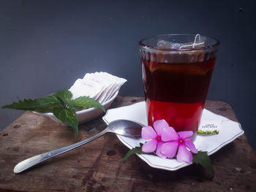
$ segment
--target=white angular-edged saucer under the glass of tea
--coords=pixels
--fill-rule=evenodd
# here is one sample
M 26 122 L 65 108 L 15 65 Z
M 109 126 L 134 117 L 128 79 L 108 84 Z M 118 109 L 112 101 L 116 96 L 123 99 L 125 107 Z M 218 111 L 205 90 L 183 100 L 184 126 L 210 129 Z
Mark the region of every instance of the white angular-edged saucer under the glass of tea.
M 118 119 L 133 120 L 144 125 L 147 125 L 146 103 L 143 101 L 126 107 L 111 109 L 108 110 L 106 115 L 103 117 L 103 120 L 105 120 L 105 123 L 107 124 L 113 120 Z M 214 114 L 213 112 L 210 112 L 208 110 L 203 110 L 201 122 L 203 123 L 203 121 L 208 122 L 213 120 L 220 120 L 221 122 L 219 134 L 207 136 L 197 135 L 194 141 L 197 150 L 206 151 L 208 155 L 217 152 L 217 150 L 219 150 L 228 143 L 232 142 L 237 137 L 244 134 L 244 131 L 241 128 L 240 123 L 224 118 L 221 115 Z M 132 147 L 140 146 L 140 142 L 146 142 L 146 140 L 142 138 L 135 139 L 132 137 L 123 137 L 119 135 L 117 135 L 117 137 L 125 146 L 129 147 L 129 149 L 131 149 Z M 149 166 L 152 166 L 157 169 L 175 171 L 177 169 L 181 169 L 182 167 L 189 165 L 185 163 L 179 163 L 178 161 L 176 161 L 175 158 L 164 159 L 159 158 L 157 155 L 137 155 Z

